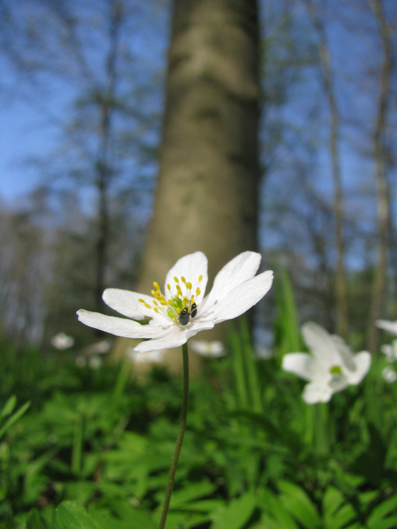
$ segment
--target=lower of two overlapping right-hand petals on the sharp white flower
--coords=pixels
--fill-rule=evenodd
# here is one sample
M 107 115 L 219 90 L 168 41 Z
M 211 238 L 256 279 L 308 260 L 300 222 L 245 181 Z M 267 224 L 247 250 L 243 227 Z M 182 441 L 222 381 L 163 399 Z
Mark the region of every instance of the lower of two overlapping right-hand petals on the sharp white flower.
M 219 303 L 213 305 L 207 303 L 204 307 L 204 314 L 197 313 L 197 317 L 200 320 L 214 320 L 215 323 L 232 320 L 258 303 L 259 299 L 263 298 L 270 289 L 272 282 L 272 270 L 247 279 L 238 287 L 233 288 L 226 297 L 220 299 Z

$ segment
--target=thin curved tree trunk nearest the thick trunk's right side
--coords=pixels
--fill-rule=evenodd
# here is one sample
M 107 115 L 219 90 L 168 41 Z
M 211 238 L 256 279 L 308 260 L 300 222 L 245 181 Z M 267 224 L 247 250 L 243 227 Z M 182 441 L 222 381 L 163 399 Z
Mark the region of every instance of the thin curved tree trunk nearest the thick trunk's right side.
M 339 154 L 339 112 L 335 98 L 333 72 L 329 57 L 326 32 L 311 0 L 305 0 L 308 12 L 319 39 L 319 57 L 322 67 L 322 80 L 324 92 L 326 93 L 330 115 L 329 150 L 332 163 L 333 177 L 333 215 L 335 230 L 335 248 L 337 254 L 335 294 L 337 321 L 336 332 L 343 338 L 347 337 L 348 329 L 348 304 L 347 304 L 347 281 L 345 267 L 345 237 L 344 237 L 344 200 L 342 193 L 340 154 Z

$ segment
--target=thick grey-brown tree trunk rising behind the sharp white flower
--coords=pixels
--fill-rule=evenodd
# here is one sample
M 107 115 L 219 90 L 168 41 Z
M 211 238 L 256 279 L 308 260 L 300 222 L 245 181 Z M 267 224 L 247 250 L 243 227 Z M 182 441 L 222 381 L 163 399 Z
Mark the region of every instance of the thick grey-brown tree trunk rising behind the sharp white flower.
M 257 248 L 256 0 L 175 0 L 154 214 L 137 290 L 203 251 L 209 284 Z M 226 339 L 226 325 L 200 338 Z

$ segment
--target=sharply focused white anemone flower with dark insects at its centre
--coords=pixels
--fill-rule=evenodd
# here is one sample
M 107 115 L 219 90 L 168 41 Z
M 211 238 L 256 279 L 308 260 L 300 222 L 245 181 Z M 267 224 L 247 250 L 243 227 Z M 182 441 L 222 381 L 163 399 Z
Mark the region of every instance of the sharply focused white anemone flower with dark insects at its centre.
M 164 294 L 156 281 L 151 296 L 117 288 L 104 291 L 104 302 L 131 320 L 84 309 L 77 311 L 78 318 L 116 336 L 149 339 L 134 348 L 140 353 L 177 347 L 216 323 L 240 316 L 263 298 L 272 286 L 273 272 L 255 276 L 259 263 L 259 253 L 240 253 L 222 268 L 204 297 L 207 258 L 202 252 L 191 253 L 167 273 Z M 151 318 L 147 325 L 134 321 L 146 317 Z

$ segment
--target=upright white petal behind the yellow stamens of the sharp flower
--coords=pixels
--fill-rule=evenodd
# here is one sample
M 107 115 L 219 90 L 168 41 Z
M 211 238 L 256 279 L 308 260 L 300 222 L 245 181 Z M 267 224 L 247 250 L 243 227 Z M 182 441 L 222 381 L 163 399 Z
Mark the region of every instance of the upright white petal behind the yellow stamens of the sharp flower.
M 182 293 L 186 294 L 186 288 L 183 284 L 181 277 L 184 277 L 186 281 L 190 281 L 193 286 L 193 294 L 196 294 L 196 288 L 200 287 L 201 293 L 196 298 L 196 303 L 200 303 L 205 294 L 205 287 L 208 281 L 208 261 L 203 252 L 190 253 L 188 256 L 179 259 L 175 265 L 167 273 L 164 294 L 166 298 L 169 298 L 169 290 L 167 284 L 170 285 L 172 294 L 176 294 L 174 277 L 179 279 L 179 286 L 181 287 Z M 203 276 L 203 279 L 198 284 L 198 278 Z

